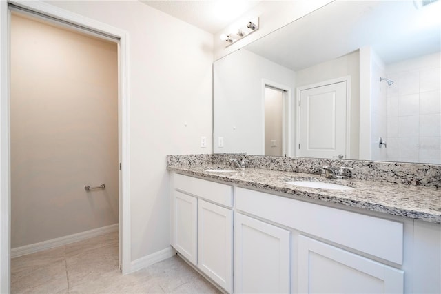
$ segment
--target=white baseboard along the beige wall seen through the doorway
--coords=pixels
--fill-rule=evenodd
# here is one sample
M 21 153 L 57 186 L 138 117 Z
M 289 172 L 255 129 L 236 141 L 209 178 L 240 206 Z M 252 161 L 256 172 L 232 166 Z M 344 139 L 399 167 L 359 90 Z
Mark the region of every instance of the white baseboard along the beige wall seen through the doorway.
M 106 233 L 112 233 L 118 231 L 118 224 L 111 224 L 110 226 L 102 226 L 101 228 L 94 228 L 90 231 L 85 231 L 81 233 L 76 233 L 64 237 L 59 237 L 55 239 L 50 239 L 48 241 L 43 241 L 39 243 L 29 244 L 17 248 L 11 249 L 11 258 L 19 257 L 22 255 L 36 253 L 46 249 L 63 246 L 65 244 L 70 244 L 78 242 L 84 239 L 89 239 Z

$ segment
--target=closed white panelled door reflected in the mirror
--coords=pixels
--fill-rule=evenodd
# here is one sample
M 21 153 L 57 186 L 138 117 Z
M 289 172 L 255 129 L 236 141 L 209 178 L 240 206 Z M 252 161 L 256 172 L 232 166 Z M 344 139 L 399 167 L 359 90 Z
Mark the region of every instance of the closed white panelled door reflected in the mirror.
M 346 81 L 300 91 L 300 156 L 346 158 Z

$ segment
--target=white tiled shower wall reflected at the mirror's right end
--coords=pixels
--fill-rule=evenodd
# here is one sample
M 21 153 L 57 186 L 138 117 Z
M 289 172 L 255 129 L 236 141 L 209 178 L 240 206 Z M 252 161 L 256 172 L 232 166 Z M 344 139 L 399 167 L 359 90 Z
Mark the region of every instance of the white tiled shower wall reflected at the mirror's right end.
M 387 160 L 441 164 L 441 53 L 388 65 Z

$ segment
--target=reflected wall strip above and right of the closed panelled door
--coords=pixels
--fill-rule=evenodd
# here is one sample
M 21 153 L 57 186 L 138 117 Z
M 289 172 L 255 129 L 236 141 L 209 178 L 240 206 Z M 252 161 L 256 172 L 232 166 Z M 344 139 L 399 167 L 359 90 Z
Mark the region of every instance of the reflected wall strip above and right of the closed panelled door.
M 351 77 L 351 159 L 358 159 L 359 108 L 360 108 L 360 66 L 359 52 L 316 64 L 296 71 L 296 87 L 316 84 L 320 81 Z

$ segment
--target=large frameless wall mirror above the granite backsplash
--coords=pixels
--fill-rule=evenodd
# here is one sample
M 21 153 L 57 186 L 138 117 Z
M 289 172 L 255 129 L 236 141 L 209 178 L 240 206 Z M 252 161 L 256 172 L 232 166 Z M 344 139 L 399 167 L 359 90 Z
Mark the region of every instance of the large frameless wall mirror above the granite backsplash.
M 441 164 L 440 15 L 334 1 L 218 59 L 214 153 Z

